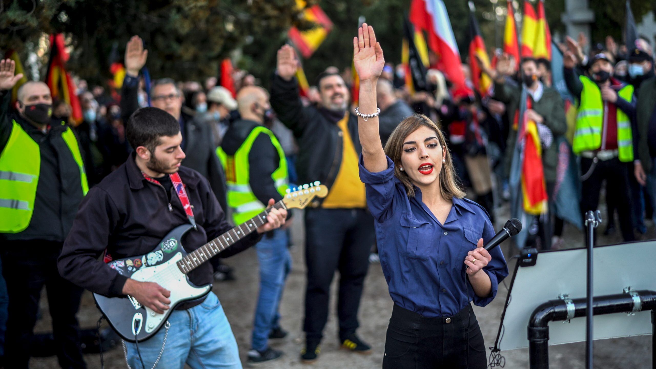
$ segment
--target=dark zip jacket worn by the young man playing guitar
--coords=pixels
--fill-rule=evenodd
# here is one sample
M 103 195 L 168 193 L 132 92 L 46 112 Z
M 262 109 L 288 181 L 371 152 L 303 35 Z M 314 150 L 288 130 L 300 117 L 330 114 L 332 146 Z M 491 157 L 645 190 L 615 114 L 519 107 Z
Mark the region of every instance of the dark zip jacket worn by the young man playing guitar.
M 230 230 L 205 177 L 193 169 L 180 167 L 180 178 L 194 209 L 197 230 L 182 240 L 191 252 Z M 152 251 L 174 227 L 188 222 L 178 196 L 171 188 L 167 196 L 161 185 L 147 181 L 134 162 L 134 154 L 119 169 L 89 190 L 80 204 L 57 267 L 60 274 L 91 292 L 122 295 L 127 277 L 98 260 L 107 251 L 113 259 L 144 255 Z M 172 211 L 169 211 L 169 205 Z M 253 246 L 261 236 L 253 232 L 218 255 L 228 257 Z M 203 285 L 212 282 L 210 263 L 190 272 L 189 279 Z

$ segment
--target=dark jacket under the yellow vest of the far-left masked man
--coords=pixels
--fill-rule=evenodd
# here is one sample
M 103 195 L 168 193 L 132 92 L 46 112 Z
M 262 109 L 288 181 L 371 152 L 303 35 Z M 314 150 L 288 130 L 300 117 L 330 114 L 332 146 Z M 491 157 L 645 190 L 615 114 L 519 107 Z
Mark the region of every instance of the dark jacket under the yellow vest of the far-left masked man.
M 0 240 L 48 240 L 64 242 L 73 225 L 83 194 L 80 169 L 71 150 L 62 139 L 67 125 L 53 124 L 45 133 L 18 114 L 9 112 L 10 91 L 0 93 L 0 154 L 5 150 L 13 123 L 30 135 L 41 154 L 39 183 L 37 184 L 34 210 L 28 228 L 18 233 L 0 234 Z M 77 137 L 77 136 L 76 136 Z M 80 147 L 82 157 L 84 152 Z M 2 195 L 0 194 L 0 197 Z

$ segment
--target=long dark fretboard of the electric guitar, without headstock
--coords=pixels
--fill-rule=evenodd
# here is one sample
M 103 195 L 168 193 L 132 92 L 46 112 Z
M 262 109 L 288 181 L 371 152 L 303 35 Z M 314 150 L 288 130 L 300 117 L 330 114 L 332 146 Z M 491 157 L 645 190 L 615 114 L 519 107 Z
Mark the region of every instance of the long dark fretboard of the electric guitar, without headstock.
M 277 202 L 272 207 L 276 209 L 287 209 L 282 201 Z M 214 240 L 207 242 L 207 244 L 204 244 L 196 250 L 188 253 L 188 255 L 177 262 L 178 268 L 180 268 L 180 271 L 182 271 L 184 274 L 187 274 L 188 272 L 193 271 L 199 267 L 199 265 L 205 263 L 205 261 L 211 259 L 216 254 L 226 250 L 235 242 L 241 240 L 248 234 L 251 234 L 251 232 L 255 232 L 258 227 L 261 227 L 267 223 L 266 217 L 269 215 L 270 209 L 271 208 L 265 209 L 262 211 L 262 213 L 259 213 L 246 223 L 237 225 L 237 227 L 228 230 L 228 232 L 225 232 L 224 234 L 216 237 Z

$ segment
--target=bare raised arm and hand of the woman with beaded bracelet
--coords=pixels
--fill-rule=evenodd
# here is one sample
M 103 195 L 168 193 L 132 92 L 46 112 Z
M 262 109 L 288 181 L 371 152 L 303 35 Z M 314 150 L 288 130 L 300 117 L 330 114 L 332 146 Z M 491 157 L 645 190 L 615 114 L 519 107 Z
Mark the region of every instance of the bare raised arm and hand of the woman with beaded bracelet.
M 358 37 L 353 37 L 353 64 L 360 79 L 358 110 L 365 115 L 375 114 L 378 110 L 376 83 L 382 73 L 385 60 L 382 57 L 380 43 L 376 41 L 373 27 L 367 26 L 366 23 L 358 29 Z M 373 173 L 387 169 L 387 159 L 380 142 L 378 116 L 372 118 L 358 116 L 358 133 L 365 168 Z

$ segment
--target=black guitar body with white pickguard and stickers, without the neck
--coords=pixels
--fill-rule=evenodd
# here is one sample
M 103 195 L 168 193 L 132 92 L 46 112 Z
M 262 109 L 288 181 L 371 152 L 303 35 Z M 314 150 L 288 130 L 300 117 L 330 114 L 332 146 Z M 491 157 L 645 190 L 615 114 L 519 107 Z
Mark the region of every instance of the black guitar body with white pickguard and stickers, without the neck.
M 110 261 L 108 265 L 119 274 L 140 282 L 156 282 L 171 291 L 171 308 L 164 314 L 157 314 L 149 307 L 140 305 L 136 299 L 127 297 L 106 297 L 94 293 L 96 305 L 107 318 L 110 326 L 126 341 L 144 341 L 164 325 L 176 305 L 184 301 L 198 299 L 212 290 L 212 285 L 196 286 L 180 271 L 176 263 L 187 255 L 182 247 L 182 236 L 192 228 L 190 224 L 180 225 L 145 255 L 126 257 Z

